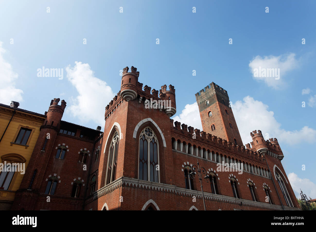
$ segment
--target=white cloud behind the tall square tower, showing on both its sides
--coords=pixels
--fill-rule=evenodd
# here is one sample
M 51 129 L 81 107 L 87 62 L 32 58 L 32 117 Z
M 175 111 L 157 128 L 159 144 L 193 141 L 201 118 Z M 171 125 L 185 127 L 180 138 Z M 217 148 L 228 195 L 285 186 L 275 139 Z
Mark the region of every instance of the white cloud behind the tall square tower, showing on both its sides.
M 256 101 L 250 96 L 245 97 L 243 101 L 236 101 L 232 104 L 234 117 L 244 144 L 252 141 L 250 132 L 258 129 L 262 131 L 265 140 L 277 138 L 279 143 L 288 145 L 314 143 L 316 130 L 308 126 L 304 126 L 298 131 L 285 130 L 281 128 L 281 123 L 274 118 L 274 112 L 269 111 L 268 108 L 268 105 Z M 173 117 L 173 120 L 202 130 L 197 103 L 187 104 L 181 114 Z

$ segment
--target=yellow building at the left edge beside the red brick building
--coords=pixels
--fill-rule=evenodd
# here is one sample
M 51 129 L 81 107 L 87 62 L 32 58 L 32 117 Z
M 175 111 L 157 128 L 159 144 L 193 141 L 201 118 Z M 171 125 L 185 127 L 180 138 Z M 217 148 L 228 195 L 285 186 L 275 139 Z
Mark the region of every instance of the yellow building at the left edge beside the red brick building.
M 46 115 L 0 104 L 0 210 L 9 210 Z

